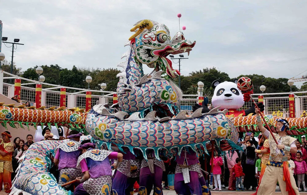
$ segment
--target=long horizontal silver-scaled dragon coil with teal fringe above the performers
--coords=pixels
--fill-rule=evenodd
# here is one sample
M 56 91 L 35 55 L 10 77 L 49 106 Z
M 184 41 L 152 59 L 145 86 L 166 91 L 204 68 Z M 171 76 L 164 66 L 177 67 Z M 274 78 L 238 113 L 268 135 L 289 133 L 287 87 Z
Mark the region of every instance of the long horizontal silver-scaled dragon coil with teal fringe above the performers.
M 230 132 L 237 134 L 235 127 L 229 124 L 223 113 L 160 123 L 119 120 L 113 116 L 97 115 L 91 110 L 87 115 L 86 130 L 95 141 L 100 140 L 99 145 L 105 143 L 111 147 L 113 143 L 118 147 L 127 146 L 131 152 L 133 148 L 139 148 L 143 153 L 148 148 L 157 151 L 160 148 L 193 147 L 212 139 L 225 139 Z M 235 139 L 237 136 L 228 138 L 229 141 L 236 141 Z

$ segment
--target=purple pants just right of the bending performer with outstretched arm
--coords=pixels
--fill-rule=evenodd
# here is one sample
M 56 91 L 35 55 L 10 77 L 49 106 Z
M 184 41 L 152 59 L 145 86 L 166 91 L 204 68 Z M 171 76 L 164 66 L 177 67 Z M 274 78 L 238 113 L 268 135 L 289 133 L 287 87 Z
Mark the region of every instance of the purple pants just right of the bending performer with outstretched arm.
M 112 183 L 111 194 L 113 193 L 117 195 L 130 195 L 131 190 L 133 191 L 133 184 L 137 179 L 138 178 L 129 178 L 125 174 L 116 171 Z

